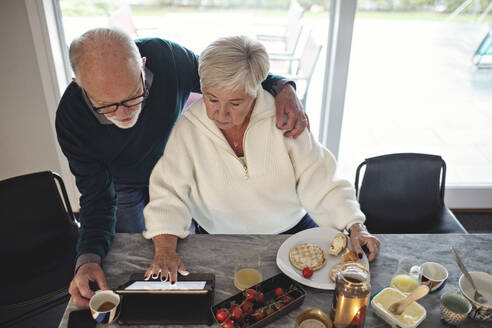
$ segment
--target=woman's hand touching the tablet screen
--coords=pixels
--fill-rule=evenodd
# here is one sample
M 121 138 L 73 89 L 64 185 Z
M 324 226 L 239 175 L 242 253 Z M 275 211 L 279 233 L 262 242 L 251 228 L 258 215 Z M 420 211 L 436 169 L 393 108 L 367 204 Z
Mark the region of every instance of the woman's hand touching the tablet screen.
M 145 280 L 160 278 L 161 281 L 168 281 L 171 284 L 178 281 L 178 272 L 187 276 L 183 262 L 176 253 L 178 237 L 174 235 L 157 235 L 152 238 L 154 241 L 154 260 L 145 272 Z

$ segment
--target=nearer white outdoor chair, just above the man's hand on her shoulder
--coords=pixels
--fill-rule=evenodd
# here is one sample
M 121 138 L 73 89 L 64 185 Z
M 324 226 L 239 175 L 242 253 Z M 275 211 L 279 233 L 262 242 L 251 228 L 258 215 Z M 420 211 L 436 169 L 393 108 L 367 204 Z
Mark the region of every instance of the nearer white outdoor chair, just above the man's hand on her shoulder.
M 301 100 L 304 109 L 306 108 L 306 100 L 311 84 L 311 78 L 314 74 L 314 69 L 318 62 L 319 54 L 321 53 L 321 44 L 313 37 L 312 33 L 308 33 L 306 43 L 299 57 L 294 56 L 270 56 L 272 67 L 278 66 L 279 63 L 288 62 L 287 74 L 282 74 L 286 79 L 293 80 L 297 85 L 297 95 Z M 292 73 L 294 71 L 294 73 Z M 300 82 L 300 83 L 299 83 Z

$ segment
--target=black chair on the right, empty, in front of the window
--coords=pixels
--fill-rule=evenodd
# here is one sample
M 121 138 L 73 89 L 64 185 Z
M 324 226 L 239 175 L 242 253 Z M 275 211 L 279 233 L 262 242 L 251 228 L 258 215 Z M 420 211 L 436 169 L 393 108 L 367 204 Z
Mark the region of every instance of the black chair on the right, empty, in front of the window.
M 359 175 L 365 166 L 359 190 Z M 355 189 L 371 233 L 467 233 L 444 205 L 441 156 L 389 154 L 357 167 Z

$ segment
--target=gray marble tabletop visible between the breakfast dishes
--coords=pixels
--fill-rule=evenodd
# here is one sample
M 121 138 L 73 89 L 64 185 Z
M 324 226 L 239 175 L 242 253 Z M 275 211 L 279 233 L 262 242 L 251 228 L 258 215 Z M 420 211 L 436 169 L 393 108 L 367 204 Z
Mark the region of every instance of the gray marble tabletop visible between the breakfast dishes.
M 191 235 L 178 244 L 178 253 L 191 272 L 212 272 L 216 276 L 215 304 L 237 293 L 232 279 L 234 255 L 255 250 L 261 254 L 263 277 L 276 275 L 277 250 L 288 235 Z M 429 294 L 419 303 L 427 310 L 427 318 L 419 327 L 446 327 L 439 315 L 439 298 L 446 292 L 458 292 L 458 279 L 461 275 L 449 251 L 454 246 L 464 258 L 470 271 L 492 273 L 491 249 L 492 234 L 469 235 L 377 235 L 382 248 L 379 256 L 370 264 L 372 291 L 387 286 L 396 270 L 398 258 L 414 255 L 420 262 L 439 262 L 449 271 L 445 287 Z M 140 234 L 117 234 L 113 247 L 104 259 L 104 269 L 110 288 L 125 283 L 130 274 L 145 271 L 153 256 L 152 242 Z M 306 298 L 300 308 L 289 313 L 268 327 L 293 327 L 295 317 L 313 307 L 329 313 L 333 291 L 305 287 Z M 70 301 L 60 323 L 67 327 L 68 315 L 77 307 Z M 99 325 L 104 327 L 104 325 Z M 98 327 L 99 327 L 98 326 Z M 117 324 L 106 325 L 117 327 Z M 365 327 L 387 327 L 388 325 L 369 309 Z M 142 326 L 157 327 L 157 326 Z M 170 326 L 178 327 L 178 326 Z M 187 326 L 192 327 L 192 326 Z M 206 325 L 196 327 L 207 327 Z M 492 327 L 492 322 L 480 322 L 467 318 L 463 327 Z

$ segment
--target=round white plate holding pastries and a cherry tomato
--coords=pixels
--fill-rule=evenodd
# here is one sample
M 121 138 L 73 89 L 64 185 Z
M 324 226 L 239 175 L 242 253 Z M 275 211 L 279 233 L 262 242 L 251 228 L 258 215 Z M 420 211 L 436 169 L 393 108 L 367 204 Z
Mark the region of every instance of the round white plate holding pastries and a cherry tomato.
M 283 244 L 280 246 L 277 252 L 277 266 L 290 278 L 295 281 L 314 288 L 319 289 L 335 289 L 335 283 L 330 279 L 330 269 L 333 265 L 338 262 L 343 262 L 341 256 L 332 256 L 328 254 L 328 248 L 330 248 L 331 241 L 333 237 L 340 231 L 335 230 L 330 227 L 319 227 L 303 230 L 301 232 L 296 233 L 295 235 L 287 238 Z M 302 276 L 301 270 L 296 269 L 289 260 L 289 252 L 290 249 L 298 244 L 302 243 L 311 243 L 316 244 L 326 254 L 326 264 L 323 268 L 318 271 L 315 271 L 313 276 L 310 279 L 306 279 Z M 353 250 L 350 240 L 348 242 L 349 249 Z M 341 252 L 341 254 L 343 254 Z M 359 263 L 366 266 L 369 269 L 369 261 L 367 260 L 366 255 L 363 255 L 363 258 L 358 261 Z

